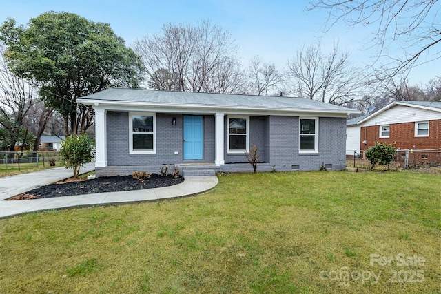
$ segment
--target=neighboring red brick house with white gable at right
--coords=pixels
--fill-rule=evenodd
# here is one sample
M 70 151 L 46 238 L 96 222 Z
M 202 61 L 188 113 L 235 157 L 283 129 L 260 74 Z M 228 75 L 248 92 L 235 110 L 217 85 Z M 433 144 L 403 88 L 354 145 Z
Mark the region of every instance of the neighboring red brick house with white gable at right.
M 440 149 L 441 102 L 395 101 L 355 126 L 360 127 L 358 141 L 362 151 L 376 141 L 395 143 L 397 149 Z

